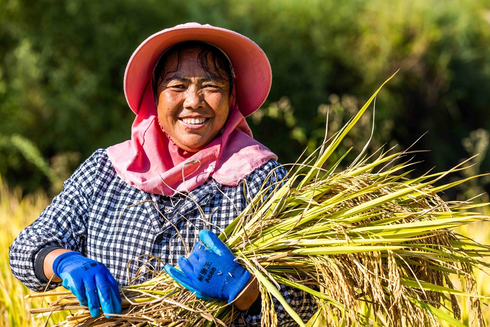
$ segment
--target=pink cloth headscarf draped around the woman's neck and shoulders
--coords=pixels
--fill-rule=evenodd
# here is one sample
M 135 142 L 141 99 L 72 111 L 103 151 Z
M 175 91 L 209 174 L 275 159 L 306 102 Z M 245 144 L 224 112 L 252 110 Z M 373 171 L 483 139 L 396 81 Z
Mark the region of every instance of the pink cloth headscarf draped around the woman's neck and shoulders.
M 152 64 L 154 67 L 155 63 Z M 125 82 L 127 73 L 126 69 Z M 125 83 L 126 98 L 130 88 L 131 85 Z M 274 153 L 252 138 L 252 132 L 238 108 L 240 101 L 230 100 L 230 114 L 221 135 L 200 151 L 186 152 L 162 130 L 151 75 L 147 76 L 139 106 L 135 108 L 130 103 L 136 112 L 131 140 L 107 149 L 118 176 L 139 190 L 172 196 L 176 192 L 192 191 L 210 176 L 220 184 L 236 186 L 268 160 L 277 159 Z

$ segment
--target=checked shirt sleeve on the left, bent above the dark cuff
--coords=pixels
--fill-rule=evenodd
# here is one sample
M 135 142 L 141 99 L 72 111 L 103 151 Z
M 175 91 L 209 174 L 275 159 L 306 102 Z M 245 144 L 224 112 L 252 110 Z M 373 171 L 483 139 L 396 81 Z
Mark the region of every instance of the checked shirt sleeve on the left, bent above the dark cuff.
M 61 193 L 9 248 L 12 273 L 29 289 L 42 292 L 61 285 L 50 283 L 46 289 L 46 281 L 36 275 L 36 256 L 42 249 L 58 247 L 85 254 L 87 217 L 104 153 L 98 150 L 82 163 L 63 183 Z

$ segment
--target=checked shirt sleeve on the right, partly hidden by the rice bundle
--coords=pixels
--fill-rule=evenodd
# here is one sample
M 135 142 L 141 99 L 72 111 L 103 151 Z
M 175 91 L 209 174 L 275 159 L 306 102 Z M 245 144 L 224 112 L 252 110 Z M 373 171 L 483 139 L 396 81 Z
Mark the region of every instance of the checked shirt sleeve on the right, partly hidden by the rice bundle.
M 283 185 L 287 180 L 288 171 L 284 166 L 281 166 L 275 160 L 269 160 L 264 166 L 255 170 L 250 175 L 245 177 L 245 194 L 247 200 L 250 201 L 255 195 L 257 195 L 261 189 L 268 188 L 268 191 L 262 197 L 266 200 L 271 192 L 274 191 L 276 186 Z M 279 284 L 281 286 L 280 292 L 286 302 L 293 308 L 293 310 L 301 317 L 303 322 L 307 322 L 315 313 L 317 304 L 313 297 L 304 291 L 299 289 Z M 281 327 L 293 327 L 297 326 L 294 319 L 288 314 L 277 299 L 273 299 L 275 312 L 277 314 L 278 326 Z M 247 311 L 242 312 L 241 316 L 236 319 L 233 324 L 235 327 L 259 327 L 262 314 L 260 310 L 253 314 L 248 314 Z

